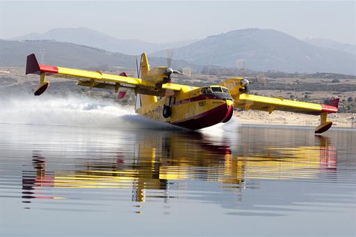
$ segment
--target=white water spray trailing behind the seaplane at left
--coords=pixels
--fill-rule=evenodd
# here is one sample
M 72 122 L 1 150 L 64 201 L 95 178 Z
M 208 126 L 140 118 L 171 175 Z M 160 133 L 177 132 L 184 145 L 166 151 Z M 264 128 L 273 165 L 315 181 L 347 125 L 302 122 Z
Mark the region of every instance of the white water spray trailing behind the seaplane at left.
M 0 123 L 174 130 L 109 99 L 55 95 L 1 98 Z

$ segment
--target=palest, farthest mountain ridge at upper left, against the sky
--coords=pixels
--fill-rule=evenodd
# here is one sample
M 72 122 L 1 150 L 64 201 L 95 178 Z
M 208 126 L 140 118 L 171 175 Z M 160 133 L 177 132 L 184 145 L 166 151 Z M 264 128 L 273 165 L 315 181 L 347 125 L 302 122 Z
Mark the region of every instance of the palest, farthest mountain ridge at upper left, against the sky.
M 47 33 L 29 33 L 24 36 L 11 38 L 10 40 L 56 40 L 131 55 L 138 55 L 142 52 L 155 52 L 171 47 L 181 47 L 196 41 L 182 40 L 172 43 L 159 44 L 147 43 L 143 40 L 121 40 L 85 27 L 52 29 Z

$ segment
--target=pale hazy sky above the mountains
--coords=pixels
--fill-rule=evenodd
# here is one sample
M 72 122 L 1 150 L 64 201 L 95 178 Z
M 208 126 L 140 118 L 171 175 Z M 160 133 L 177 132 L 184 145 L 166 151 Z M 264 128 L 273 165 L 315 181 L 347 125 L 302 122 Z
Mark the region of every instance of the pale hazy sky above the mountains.
M 262 28 L 356 44 L 356 1 L 0 0 L 0 38 L 78 26 L 156 43 Z

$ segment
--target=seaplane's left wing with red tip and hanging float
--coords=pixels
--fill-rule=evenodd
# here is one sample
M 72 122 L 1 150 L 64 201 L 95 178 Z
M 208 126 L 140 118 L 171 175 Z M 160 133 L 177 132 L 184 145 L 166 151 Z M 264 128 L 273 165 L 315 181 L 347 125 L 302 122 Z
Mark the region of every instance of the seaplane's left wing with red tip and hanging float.
M 125 73 L 120 75 L 113 75 L 103 72 L 92 72 L 87 70 L 78 70 L 74 68 L 63 68 L 57 66 L 49 66 L 39 64 L 35 54 L 27 56 L 26 61 L 26 75 L 37 74 L 40 75 L 40 86 L 35 91 L 35 95 L 40 95 L 46 91 L 49 86 L 49 82 L 46 80 L 46 76 L 61 77 L 67 79 L 78 80 L 79 86 L 90 86 L 103 88 L 103 89 L 115 89 L 118 91 L 120 87 L 136 89 L 137 93 L 142 94 L 157 94 L 161 93 L 160 89 L 170 89 L 173 91 L 179 91 L 182 85 L 167 83 L 163 84 L 161 88 L 156 88 L 156 83 L 147 79 L 140 79 L 135 77 L 127 77 Z

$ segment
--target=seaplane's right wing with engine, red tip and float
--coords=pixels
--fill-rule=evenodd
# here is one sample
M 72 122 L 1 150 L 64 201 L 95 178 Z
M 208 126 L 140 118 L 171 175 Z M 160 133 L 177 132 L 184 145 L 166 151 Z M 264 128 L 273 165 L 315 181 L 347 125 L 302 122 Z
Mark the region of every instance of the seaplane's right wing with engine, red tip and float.
M 243 109 L 254 109 L 272 113 L 274 110 L 295 112 L 300 114 L 312 114 L 321 116 L 321 124 L 315 132 L 325 132 L 332 126 L 332 121 L 327 121 L 327 114 L 337 113 L 339 108 L 339 98 L 326 102 L 326 105 L 319 105 L 309 102 L 295 100 L 284 100 L 283 98 L 270 98 L 260 95 L 250 95 L 245 93 L 248 81 L 243 78 L 227 79 L 222 84 L 227 87 L 234 98 L 234 106 Z

